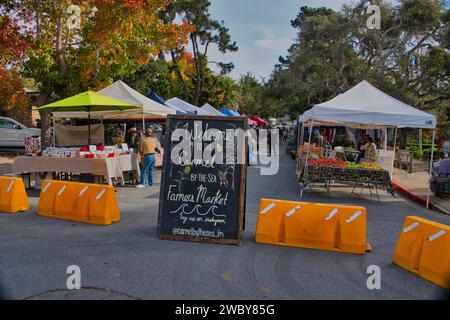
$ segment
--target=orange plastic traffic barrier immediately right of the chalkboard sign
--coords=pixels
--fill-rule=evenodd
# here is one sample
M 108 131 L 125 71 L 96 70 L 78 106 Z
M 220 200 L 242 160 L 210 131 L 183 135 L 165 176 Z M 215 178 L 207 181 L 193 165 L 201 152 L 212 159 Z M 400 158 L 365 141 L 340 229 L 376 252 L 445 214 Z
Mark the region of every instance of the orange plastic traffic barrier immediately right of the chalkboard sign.
M 364 207 L 261 199 L 256 242 L 364 254 Z

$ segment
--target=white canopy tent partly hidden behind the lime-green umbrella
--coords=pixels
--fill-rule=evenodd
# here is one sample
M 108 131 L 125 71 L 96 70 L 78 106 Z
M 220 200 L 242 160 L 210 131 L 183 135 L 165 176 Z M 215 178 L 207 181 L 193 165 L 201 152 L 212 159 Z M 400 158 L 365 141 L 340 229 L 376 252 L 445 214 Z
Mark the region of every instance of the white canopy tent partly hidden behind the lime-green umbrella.
M 143 126 L 145 127 L 146 117 L 165 118 L 168 114 L 176 113 L 176 110 L 147 98 L 121 80 L 98 91 L 98 93 L 134 104 L 138 109 L 91 112 L 92 119 L 136 119 L 142 117 Z M 53 116 L 55 118 L 87 118 L 88 114 L 87 112 L 54 112 Z

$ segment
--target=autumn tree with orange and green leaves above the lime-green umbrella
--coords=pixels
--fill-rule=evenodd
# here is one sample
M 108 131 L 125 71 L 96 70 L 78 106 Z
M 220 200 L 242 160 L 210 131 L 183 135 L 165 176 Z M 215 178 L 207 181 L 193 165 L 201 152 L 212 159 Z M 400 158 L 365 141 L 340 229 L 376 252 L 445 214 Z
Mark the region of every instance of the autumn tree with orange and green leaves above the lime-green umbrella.
M 26 40 L 20 72 L 39 84 L 39 102 L 45 104 L 101 88 L 132 74 L 160 52 L 186 45 L 193 27 L 158 16 L 169 2 L 1 1 L 0 18 L 11 17 L 16 33 Z M 6 49 L 14 47 L 7 44 Z M 13 69 L 13 65 L 7 62 L 6 67 Z M 41 118 L 44 145 L 48 145 L 49 115 Z

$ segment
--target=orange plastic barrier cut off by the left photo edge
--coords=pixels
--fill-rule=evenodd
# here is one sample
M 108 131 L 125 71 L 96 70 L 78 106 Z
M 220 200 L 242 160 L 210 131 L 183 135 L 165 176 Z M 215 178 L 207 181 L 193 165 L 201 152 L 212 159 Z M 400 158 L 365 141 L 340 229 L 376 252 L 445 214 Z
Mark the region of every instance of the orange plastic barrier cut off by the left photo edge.
M 15 213 L 30 209 L 21 178 L 0 177 L 0 212 Z

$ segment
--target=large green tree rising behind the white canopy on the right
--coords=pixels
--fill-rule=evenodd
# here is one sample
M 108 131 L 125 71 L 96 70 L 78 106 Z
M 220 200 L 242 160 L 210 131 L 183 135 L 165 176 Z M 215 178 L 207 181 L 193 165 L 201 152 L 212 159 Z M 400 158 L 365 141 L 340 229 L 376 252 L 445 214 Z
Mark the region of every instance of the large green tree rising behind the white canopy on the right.
M 366 27 L 372 3 L 381 9 L 381 30 Z M 441 0 L 361 0 L 339 12 L 302 7 L 292 21 L 297 38 L 262 96 L 298 114 L 367 79 L 436 114 L 444 128 L 450 112 L 449 22 Z

